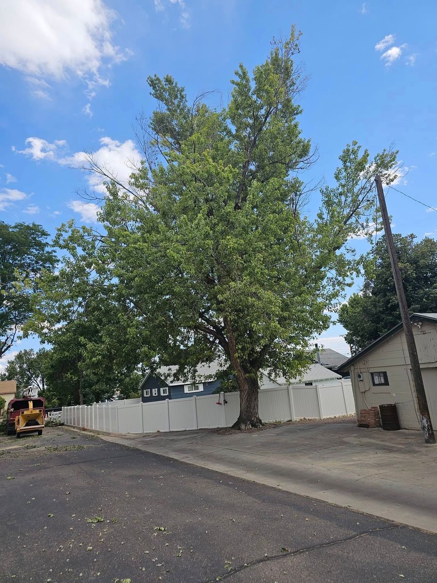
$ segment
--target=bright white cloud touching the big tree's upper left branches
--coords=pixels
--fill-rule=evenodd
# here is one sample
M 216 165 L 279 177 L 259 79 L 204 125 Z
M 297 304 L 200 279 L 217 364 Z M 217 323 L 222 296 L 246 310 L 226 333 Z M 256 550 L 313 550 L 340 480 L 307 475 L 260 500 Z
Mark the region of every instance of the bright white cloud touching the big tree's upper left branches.
M 136 149 L 132 140 L 118 142 L 105 136 L 100 138 L 101 147 L 93 153 L 93 160 L 101 168 L 105 168 L 108 173 L 112 174 L 121 184 L 128 184 L 129 176 L 133 170 L 139 166 L 141 154 Z M 73 156 L 64 157 L 59 164 L 65 164 L 75 168 L 86 167 L 88 163 L 88 154 L 86 152 L 76 152 Z M 106 193 L 103 179 L 96 173 L 87 175 L 88 184 L 98 192 Z

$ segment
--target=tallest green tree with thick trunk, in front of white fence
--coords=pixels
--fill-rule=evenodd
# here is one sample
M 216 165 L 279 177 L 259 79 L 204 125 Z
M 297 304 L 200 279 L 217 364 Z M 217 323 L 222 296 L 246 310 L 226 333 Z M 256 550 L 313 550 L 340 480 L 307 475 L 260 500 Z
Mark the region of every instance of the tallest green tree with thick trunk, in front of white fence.
M 371 159 L 353 142 L 308 216 L 297 51 L 292 31 L 252 76 L 240 65 L 218 110 L 205 96 L 189 103 L 170 76 L 149 78 L 157 109 L 140 123 L 139 171 L 121 185 L 91 157 L 109 179 L 104 229 L 65 235 L 71 248 L 94 240 L 93 268 L 114 285 L 140 362 L 157 367 L 178 354 L 188 374 L 217 358 L 230 368 L 240 429 L 262 423 L 261 370 L 291 378 L 308 365 L 311 338 L 358 271 L 346 244 L 374 220 L 373 176 L 390 182 L 396 162 L 395 152 Z

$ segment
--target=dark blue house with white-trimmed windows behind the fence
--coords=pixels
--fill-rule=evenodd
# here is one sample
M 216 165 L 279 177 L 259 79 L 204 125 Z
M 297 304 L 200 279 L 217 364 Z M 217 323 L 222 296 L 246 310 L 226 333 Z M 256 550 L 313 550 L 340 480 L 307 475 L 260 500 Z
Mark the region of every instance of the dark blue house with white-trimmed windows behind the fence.
M 164 401 L 165 399 L 184 399 L 193 395 L 211 395 L 220 381 L 215 380 L 220 370 L 217 362 L 200 364 L 196 368 L 195 378 L 177 378 L 177 366 L 159 368 L 156 373 L 147 373 L 140 384 L 143 403 Z

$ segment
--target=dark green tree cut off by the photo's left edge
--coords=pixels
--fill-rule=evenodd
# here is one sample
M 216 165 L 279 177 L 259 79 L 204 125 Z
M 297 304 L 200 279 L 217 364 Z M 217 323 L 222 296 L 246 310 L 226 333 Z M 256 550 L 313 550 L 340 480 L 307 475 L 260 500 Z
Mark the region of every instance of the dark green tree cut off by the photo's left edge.
M 30 297 L 42 269 L 52 269 L 55 254 L 39 224 L 0 221 L 0 357 L 13 345 L 31 314 Z M 18 285 L 24 279 L 26 286 Z

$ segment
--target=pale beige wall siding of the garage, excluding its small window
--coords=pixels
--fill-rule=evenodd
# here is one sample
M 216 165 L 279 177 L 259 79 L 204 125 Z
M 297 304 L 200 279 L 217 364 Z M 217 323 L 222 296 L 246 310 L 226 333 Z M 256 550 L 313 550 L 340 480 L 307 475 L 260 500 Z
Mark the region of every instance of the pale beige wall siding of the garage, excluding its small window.
M 435 373 L 429 374 L 435 374 L 435 387 L 437 387 L 436 325 L 431 322 L 423 322 L 420 328 L 413 325 L 413 332 L 421 368 L 422 370 L 429 368 L 435 371 Z M 371 373 L 381 371 L 387 373 L 389 385 L 373 387 Z M 363 381 L 358 380 L 358 373 L 364 375 Z M 350 374 L 357 416 L 360 409 L 366 409 L 367 406 L 396 402 L 401 428 L 421 429 L 417 399 L 411 378 L 410 357 L 403 331 L 396 332 L 371 352 L 364 354 L 362 359 L 355 361 L 350 367 Z M 360 390 L 362 388 L 366 390 L 363 392 Z

